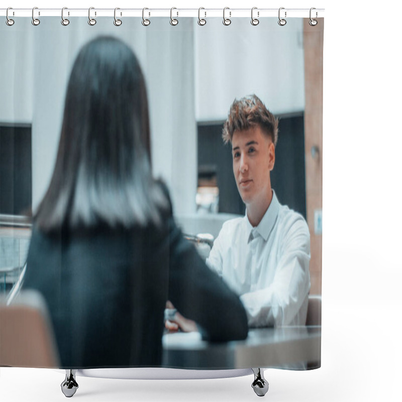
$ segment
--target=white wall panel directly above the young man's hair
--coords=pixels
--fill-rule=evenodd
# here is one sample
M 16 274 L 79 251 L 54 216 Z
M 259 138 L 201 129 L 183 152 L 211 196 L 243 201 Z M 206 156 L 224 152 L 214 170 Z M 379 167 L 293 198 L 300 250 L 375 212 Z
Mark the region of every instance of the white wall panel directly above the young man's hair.
M 194 28 L 194 40 L 198 122 L 225 120 L 234 98 L 250 93 L 274 114 L 304 111 L 302 19 L 289 19 L 284 27 L 276 18 L 255 27 L 248 18 L 233 19 L 228 27 L 208 19 Z

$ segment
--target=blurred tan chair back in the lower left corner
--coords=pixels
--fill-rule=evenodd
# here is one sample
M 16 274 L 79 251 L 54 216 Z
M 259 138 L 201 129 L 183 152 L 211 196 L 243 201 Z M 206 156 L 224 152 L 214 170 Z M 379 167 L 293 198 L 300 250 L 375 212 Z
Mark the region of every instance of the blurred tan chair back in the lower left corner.
M 42 295 L 23 290 L 0 305 L 0 366 L 58 367 L 53 329 Z

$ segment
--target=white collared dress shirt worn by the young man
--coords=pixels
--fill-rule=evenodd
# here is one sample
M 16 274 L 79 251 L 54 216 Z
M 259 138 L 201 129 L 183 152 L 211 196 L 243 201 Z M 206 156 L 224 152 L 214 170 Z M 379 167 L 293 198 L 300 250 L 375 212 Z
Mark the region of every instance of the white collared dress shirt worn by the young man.
M 225 222 L 207 259 L 240 296 L 250 327 L 306 324 L 309 262 L 307 223 L 274 191 L 259 225 L 247 214 Z

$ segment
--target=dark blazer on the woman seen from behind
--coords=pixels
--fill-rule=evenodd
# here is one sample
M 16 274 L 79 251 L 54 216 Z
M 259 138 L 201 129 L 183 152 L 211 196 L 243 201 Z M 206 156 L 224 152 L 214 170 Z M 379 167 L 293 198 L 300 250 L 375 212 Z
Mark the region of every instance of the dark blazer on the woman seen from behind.
M 62 368 L 160 366 L 168 299 L 211 341 L 247 337 L 238 296 L 165 218 L 130 230 L 34 226 L 23 287 L 46 299 Z

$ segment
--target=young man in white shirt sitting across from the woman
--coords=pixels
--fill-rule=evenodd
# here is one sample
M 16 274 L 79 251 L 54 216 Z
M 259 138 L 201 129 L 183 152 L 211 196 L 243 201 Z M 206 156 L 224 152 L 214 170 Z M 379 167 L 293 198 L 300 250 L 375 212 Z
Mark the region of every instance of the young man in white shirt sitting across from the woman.
M 207 265 L 238 295 L 249 327 L 305 325 L 310 233 L 304 218 L 279 204 L 271 188 L 278 121 L 256 95 L 235 100 L 223 129 L 246 215 L 224 223 Z M 166 328 L 196 327 L 178 313 Z

